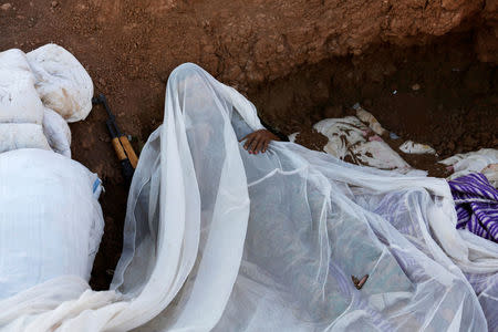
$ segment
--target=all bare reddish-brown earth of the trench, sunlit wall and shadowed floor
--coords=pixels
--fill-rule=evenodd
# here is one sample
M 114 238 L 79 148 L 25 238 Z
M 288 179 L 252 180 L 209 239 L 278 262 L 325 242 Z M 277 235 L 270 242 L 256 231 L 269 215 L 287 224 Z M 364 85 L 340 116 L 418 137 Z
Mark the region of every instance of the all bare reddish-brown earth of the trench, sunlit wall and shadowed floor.
M 444 176 L 438 158 L 497 148 L 496 9 L 480 1 L 453 9 L 381 2 L 367 10 L 363 1 L 0 2 L 0 50 L 66 48 L 137 152 L 162 123 L 170 71 L 189 61 L 239 89 L 273 129 L 301 132 L 309 148 L 326 143 L 312 131 L 315 122 L 353 114 L 355 103 L 388 131 L 435 147 L 438 157 L 403 155 L 432 175 Z M 376 15 L 381 23 L 369 21 Z M 91 280 L 97 290 L 108 287 L 121 255 L 127 197 L 105 120 L 98 106 L 71 124 L 73 158 L 105 186 L 105 232 Z

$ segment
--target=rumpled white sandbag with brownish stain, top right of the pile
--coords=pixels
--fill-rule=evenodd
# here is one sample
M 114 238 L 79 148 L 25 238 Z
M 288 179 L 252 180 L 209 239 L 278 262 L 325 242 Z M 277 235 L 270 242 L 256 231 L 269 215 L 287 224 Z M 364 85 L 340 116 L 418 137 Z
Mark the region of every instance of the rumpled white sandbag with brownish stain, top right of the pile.
M 55 44 L 38 48 L 27 56 L 43 105 L 68 122 L 84 120 L 92 110 L 93 83 L 76 58 Z

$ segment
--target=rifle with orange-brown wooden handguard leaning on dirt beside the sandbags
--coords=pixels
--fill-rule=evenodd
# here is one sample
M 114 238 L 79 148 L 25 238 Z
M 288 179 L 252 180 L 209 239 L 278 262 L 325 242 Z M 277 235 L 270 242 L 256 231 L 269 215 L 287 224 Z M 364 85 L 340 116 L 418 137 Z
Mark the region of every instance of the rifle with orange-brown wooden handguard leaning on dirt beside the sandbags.
M 92 98 L 93 104 L 103 104 L 105 111 L 107 112 L 108 118 L 105 121 L 107 125 L 108 133 L 111 135 L 114 152 L 116 153 L 117 159 L 121 163 L 123 176 L 127 183 L 132 181 L 133 174 L 135 172 L 136 165 L 138 163 L 138 157 L 133 151 L 128 138 L 124 135 L 116 124 L 116 117 L 111 112 L 107 104 L 107 98 L 105 95 L 100 94 Z

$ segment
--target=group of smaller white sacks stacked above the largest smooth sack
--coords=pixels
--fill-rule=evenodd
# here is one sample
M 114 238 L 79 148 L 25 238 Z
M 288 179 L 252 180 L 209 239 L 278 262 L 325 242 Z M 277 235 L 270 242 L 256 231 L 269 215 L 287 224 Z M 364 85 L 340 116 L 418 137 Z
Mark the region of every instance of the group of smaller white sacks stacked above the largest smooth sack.
M 90 75 L 59 45 L 1 52 L 0 153 L 31 147 L 71 157 L 66 122 L 87 116 L 92 95 Z

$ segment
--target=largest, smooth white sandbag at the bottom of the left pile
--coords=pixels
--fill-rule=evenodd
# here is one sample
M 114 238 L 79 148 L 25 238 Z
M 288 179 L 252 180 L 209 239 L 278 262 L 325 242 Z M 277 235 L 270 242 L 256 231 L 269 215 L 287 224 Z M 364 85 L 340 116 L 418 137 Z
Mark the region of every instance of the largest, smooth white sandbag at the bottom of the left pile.
M 97 176 L 53 152 L 18 149 L 0 154 L 0 299 L 61 276 L 87 281 L 104 226 Z

